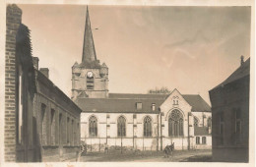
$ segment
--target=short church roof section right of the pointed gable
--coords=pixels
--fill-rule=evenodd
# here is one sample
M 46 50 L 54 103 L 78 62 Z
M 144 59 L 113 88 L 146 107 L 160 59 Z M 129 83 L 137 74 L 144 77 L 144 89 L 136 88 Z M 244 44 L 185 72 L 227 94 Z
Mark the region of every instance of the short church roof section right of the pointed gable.
M 192 106 L 192 112 L 211 112 L 210 105 L 199 94 L 184 94 L 183 98 Z

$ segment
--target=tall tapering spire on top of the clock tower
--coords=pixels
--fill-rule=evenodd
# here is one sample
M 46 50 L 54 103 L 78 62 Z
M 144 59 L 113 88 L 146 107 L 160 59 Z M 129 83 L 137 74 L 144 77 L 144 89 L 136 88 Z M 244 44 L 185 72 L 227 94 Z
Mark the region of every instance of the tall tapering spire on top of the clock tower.
M 87 6 L 87 19 L 84 34 L 83 56 L 82 63 L 90 63 L 96 61 L 96 49 L 94 43 L 93 32 L 91 28 L 91 22 L 89 17 L 89 10 Z

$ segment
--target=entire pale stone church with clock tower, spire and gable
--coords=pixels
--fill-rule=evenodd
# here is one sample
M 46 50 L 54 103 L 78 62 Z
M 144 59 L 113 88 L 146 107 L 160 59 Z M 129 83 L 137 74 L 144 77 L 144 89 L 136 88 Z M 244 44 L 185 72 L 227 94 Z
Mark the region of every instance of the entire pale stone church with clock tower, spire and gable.
M 72 99 L 82 109 L 88 151 L 212 148 L 212 112 L 199 94 L 110 93 L 108 67 L 96 58 L 87 9 L 82 62 L 72 67 Z

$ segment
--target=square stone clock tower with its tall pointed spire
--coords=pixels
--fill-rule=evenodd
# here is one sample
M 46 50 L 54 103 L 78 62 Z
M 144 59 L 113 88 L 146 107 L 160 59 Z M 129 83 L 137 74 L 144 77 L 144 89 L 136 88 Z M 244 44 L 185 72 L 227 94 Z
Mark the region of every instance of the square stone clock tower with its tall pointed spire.
M 72 99 L 108 97 L 108 68 L 96 59 L 96 49 L 87 7 L 82 62 L 72 67 Z

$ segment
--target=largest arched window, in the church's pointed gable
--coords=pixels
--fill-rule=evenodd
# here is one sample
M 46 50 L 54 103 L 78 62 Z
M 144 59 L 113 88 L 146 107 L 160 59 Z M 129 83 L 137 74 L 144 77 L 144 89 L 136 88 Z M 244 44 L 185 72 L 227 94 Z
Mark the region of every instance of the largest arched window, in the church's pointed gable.
M 168 118 L 169 137 L 183 136 L 183 116 L 178 110 L 173 110 Z

